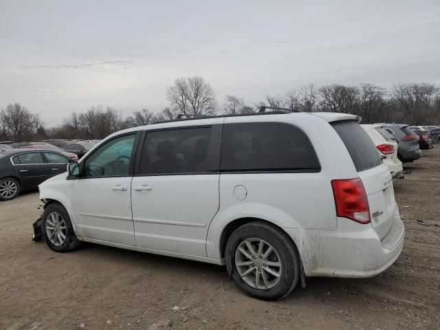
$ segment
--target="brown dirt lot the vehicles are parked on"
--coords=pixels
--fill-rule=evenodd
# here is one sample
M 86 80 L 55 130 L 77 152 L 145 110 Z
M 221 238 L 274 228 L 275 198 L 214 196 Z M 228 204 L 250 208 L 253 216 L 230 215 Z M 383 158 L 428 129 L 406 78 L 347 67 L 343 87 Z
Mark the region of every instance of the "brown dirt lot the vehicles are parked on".
M 310 278 L 270 303 L 214 265 L 92 244 L 54 253 L 31 241 L 36 192 L 0 202 L 0 329 L 439 329 L 440 227 L 428 224 L 440 225 L 440 147 L 405 170 L 406 241 L 391 268 Z

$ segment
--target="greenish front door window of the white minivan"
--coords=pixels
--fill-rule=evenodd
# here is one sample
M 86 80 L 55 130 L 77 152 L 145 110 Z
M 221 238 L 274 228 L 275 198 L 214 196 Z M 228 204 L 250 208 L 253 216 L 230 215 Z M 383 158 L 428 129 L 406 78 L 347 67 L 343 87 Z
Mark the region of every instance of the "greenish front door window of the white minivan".
M 129 175 L 131 151 L 135 135 L 124 135 L 98 148 L 85 161 L 85 177 L 113 177 Z

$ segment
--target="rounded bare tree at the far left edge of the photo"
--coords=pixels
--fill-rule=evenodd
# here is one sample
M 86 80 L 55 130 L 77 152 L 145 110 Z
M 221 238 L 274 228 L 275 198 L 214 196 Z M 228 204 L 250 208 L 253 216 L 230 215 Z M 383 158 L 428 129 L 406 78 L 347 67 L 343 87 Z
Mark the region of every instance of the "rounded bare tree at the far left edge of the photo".
M 33 133 L 32 113 L 20 103 L 8 104 L 0 111 L 3 130 L 10 133 L 14 142 L 21 142 Z

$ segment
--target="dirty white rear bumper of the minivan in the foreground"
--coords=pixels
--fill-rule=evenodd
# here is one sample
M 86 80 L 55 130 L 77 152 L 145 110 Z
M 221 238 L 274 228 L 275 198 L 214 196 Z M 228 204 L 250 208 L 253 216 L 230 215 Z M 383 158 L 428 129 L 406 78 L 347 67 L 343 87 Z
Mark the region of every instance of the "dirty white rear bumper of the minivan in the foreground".
M 384 272 L 399 257 L 405 228 L 398 210 L 391 230 L 382 240 L 370 223 L 342 221 L 344 230 L 303 230 L 300 233 L 285 229 L 297 244 L 307 276 L 371 277 Z

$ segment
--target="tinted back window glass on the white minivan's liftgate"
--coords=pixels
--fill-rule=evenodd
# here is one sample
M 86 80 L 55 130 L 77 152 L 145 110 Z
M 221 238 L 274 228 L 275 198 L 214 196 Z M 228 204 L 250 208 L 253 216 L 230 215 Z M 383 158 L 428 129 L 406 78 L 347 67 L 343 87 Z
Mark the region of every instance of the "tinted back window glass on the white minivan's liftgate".
M 382 164 L 382 159 L 380 159 L 373 141 L 358 122 L 354 120 L 341 120 L 331 122 L 330 124 L 347 147 L 358 172 L 369 170 Z

